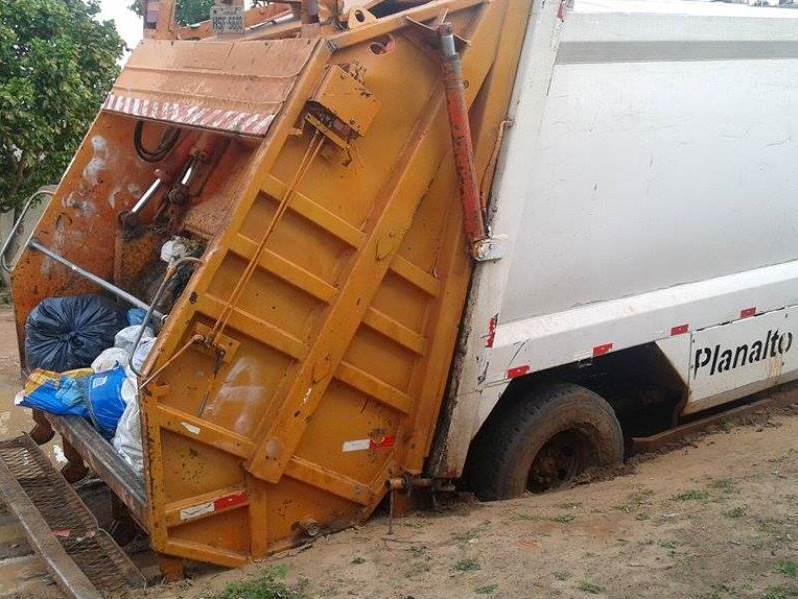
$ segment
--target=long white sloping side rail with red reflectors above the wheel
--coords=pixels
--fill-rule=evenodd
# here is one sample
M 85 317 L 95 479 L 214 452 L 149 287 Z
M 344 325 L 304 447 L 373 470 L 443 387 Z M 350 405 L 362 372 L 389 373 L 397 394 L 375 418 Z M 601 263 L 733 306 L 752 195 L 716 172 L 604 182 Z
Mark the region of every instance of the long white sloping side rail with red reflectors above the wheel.
M 798 303 L 798 261 L 500 324 L 485 384 Z

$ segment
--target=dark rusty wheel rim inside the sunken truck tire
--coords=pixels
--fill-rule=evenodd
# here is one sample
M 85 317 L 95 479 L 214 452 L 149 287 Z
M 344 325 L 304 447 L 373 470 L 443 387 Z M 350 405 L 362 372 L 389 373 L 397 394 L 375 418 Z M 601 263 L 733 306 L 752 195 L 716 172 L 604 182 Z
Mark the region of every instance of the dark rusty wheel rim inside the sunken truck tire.
M 570 482 L 585 469 L 589 448 L 588 440 L 577 431 L 557 433 L 532 461 L 527 488 L 543 493 Z

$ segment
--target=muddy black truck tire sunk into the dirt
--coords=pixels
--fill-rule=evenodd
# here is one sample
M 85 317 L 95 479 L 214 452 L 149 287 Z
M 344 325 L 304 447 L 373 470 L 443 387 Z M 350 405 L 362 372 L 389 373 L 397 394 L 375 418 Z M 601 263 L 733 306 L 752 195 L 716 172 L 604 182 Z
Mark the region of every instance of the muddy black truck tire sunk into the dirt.
M 469 481 L 483 501 L 510 499 L 622 460 L 623 433 L 610 404 L 561 383 L 497 406 L 471 448 Z

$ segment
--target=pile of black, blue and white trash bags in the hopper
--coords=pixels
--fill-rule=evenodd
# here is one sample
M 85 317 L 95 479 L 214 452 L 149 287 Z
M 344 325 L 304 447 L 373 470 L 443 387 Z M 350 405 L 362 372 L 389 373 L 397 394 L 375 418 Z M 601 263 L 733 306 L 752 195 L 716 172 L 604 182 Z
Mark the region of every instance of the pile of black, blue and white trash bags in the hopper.
M 86 418 L 141 476 L 136 372 L 155 344 L 140 308 L 97 295 L 48 298 L 28 316 L 25 358 L 33 369 L 19 406 Z M 136 341 L 138 340 L 138 343 Z

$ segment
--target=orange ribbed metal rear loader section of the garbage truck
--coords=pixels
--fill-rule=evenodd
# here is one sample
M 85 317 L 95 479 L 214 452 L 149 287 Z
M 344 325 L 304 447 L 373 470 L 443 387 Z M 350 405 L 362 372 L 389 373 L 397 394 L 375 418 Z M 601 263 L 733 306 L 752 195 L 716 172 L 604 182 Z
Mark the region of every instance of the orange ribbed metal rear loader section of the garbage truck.
M 465 96 L 477 173 L 489 177 L 529 2 L 437 1 L 406 12 L 423 20 L 436 7 L 471 42 Z M 167 238 L 157 228 L 146 244 L 120 233 L 120 213 L 155 168 L 132 151 L 134 117 L 159 121 L 150 142 L 189 124 L 184 135 L 198 126 L 232 140 L 179 221 L 205 246 L 203 265 L 144 367 L 157 551 L 240 565 L 363 520 L 388 479 L 421 472 L 472 268 L 441 65 L 422 29 L 389 15 L 311 38 L 149 40 L 114 94 L 139 106 L 267 114 L 268 130 L 245 139 L 224 123 L 109 100 L 45 212 L 38 239 L 132 287 Z M 331 72 L 344 79 L 324 85 Z M 336 90 L 369 100 L 325 96 Z M 325 102 L 334 109 L 325 113 Z M 143 215 L 145 228 L 152 218 Z M 143 254 L 124 260 L 133 248 Z M 120 273 L 114 264 L 135 266 Z M 27 252 L 14 273 L 18 322 L 43 297 L 87 290 Z

